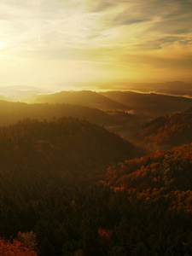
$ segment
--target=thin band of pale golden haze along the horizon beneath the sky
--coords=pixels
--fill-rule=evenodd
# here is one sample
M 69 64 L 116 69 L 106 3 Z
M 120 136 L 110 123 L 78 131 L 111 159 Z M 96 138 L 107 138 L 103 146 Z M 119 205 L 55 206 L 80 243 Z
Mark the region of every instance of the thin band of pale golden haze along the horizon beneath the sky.
M 139 94 L 160 94 L 165 96 L 183 96 L 192 98 L 192 83 L 183 83 L 182 81 L 172 81 L 166 83 L 111 83 L 108 84 L 68 84 L 66 86 L 48 86 L 41 88 L 40 86 L 30 85 L 7 85 L 0 86 L 0 100 L 10 102 L 34 102 L 35 97 L 54 95 L 60 92 L 78 92 L 92 91 L 96 93 L 108 91 L 132 91 Z

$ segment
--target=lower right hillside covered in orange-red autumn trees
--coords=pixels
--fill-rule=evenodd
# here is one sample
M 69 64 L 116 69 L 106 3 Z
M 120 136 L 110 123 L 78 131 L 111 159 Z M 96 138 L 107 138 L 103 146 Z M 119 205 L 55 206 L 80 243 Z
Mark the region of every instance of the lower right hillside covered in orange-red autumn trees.
M 192 189 L 191 169 L 192 143 L 110 166 L 105 182 L 114 188 L 145 193 L 155 189 L 164 190 L 164 194 L 187 191 Z

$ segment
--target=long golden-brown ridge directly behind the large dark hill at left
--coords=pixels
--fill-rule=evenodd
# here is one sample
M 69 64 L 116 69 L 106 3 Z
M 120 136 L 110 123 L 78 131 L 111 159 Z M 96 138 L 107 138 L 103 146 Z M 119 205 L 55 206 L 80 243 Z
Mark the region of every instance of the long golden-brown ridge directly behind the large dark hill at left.
M 86 119 L 97 125 L 114 125 L 116 120 L 108 113 L 80 105 L 70 104 L 26 104 L 24 102 L 6 102 L 0 100 L 0 125 L 11 125 L 20 119 L 50 120 L 53 117 Z

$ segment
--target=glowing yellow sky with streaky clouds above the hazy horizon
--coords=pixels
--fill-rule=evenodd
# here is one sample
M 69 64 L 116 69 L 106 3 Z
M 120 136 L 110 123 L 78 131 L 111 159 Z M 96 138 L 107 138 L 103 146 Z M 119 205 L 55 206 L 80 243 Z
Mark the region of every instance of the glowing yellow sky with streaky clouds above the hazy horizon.
M 192 0 L 0 3 L 0 87 L 191 82 L 191 70 Z

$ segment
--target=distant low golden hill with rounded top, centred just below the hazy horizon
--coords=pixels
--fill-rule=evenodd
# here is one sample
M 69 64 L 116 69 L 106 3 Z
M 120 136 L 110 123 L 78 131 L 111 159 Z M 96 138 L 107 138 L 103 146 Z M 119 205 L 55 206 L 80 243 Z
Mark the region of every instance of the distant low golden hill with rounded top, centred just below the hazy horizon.
M 123 103 L 115 102 L 107 96 L 90 90 L 81 91 L 61 91 L 46 96 L 37 96 L 32 102 L 36 103 L 68 103 L 79 104 L 90 108 L 102 110 L 129 110 Z

